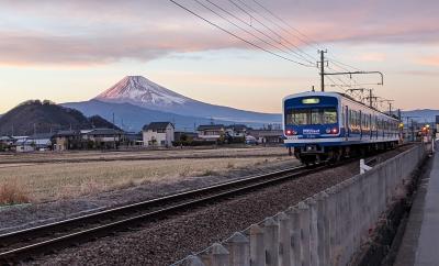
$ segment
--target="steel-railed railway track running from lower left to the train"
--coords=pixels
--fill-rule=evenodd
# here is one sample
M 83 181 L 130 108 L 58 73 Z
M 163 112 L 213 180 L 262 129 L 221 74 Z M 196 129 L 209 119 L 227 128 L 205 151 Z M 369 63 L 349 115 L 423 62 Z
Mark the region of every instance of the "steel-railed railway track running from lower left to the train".
M 15 264 L 117 232 L 130 231 L 189 209 L 309 175 L 325 167 L 297 166 L 2 234 L 0 264 Z

